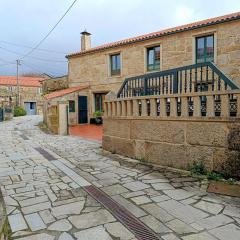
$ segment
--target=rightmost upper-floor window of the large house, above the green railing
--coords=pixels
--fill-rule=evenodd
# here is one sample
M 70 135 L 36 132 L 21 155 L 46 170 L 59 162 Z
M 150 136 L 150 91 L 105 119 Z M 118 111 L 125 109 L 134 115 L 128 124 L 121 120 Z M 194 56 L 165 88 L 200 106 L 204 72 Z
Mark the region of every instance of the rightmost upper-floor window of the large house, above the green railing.
M 196 63 L 214 61 L 214 36 L 196 38 Z

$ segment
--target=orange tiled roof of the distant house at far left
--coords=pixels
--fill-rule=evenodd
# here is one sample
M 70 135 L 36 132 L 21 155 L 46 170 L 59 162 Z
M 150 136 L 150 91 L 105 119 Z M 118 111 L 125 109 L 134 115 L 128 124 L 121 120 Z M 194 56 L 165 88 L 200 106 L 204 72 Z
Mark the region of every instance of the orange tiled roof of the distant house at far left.
M 19 77 L 19 85 L 24 87 L 41 87 L 43 79 L 40 77 Z M 16 86 L 16 76 L 0 76 L 0 85 Z

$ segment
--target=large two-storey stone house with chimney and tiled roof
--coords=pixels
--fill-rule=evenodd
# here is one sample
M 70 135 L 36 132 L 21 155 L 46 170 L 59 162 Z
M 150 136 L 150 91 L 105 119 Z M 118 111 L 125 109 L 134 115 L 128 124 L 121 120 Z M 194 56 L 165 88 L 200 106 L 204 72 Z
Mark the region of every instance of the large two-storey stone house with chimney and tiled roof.
M 239 19 L 233 13 L 98 47 L 91 47 L 91 34 L 84 31 L 81 51 L 66 56 L 69 88 L 83 89 L 54 100 L 69 101 L 75 125 L 104 111 L 106 94 L 117 93 L 130 77 L 211 61 L 240 84 Z

